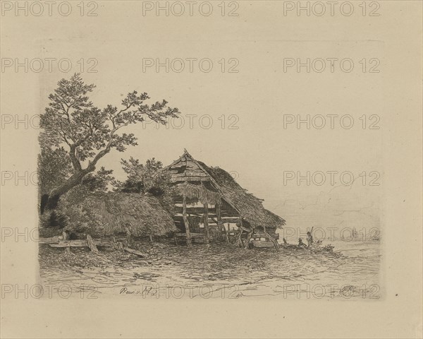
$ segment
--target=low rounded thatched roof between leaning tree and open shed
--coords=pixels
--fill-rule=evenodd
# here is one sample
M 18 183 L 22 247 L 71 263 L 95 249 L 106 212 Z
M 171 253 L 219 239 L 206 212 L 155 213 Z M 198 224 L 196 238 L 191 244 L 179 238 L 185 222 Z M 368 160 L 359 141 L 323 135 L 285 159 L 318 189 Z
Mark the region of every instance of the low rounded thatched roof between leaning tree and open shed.
M 154 196 L 134 193 L 106 194 L 94 202 L 104 232 L 130 232 L 135 237 L 164 235 L 178 230 L 171 215 Z

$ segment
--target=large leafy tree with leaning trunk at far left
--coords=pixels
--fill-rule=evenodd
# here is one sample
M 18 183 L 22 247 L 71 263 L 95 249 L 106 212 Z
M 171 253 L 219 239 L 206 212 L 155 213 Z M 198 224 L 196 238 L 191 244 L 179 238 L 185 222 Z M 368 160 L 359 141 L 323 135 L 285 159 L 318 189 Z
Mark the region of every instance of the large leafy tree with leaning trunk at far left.
M 43 184 L 42 213 L 45 208 L 56 208 L 59 198 L 94 172 L 97 162 L 112 149 L 123 152 L 128 145 L 137 145 L 133 133 L 121 132 L 125 126 L 137 124 L 147 117 L 161 124 L 166 124 L 167 117 L 178 117 L 178 109 L 167 107 L 166 100 L 147 105 L 147 93 L 138 94 L 137 91 L 126 95 L 121 108 L 107 105 L 99 109 L 87 96 L 94 88 L 94 85 L 86 85 L 78 73 L 70 80 L 62 79 L 49 95 L 49 107 L 41 114 L 39 143 L 42 150 L 50 149 L 61 157 L 58 162 L 69 160 L 71 164 L 70 171 L 68 167 L 63 168 L 61 179 Z

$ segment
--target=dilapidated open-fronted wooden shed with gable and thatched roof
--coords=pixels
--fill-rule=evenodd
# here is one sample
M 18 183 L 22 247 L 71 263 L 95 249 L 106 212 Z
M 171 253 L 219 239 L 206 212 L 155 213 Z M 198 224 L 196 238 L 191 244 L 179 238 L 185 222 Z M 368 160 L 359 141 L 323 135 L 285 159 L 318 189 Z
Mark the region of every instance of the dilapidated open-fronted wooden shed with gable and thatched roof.
M 285 220 L 266 210 L 261 199 L 243 189 L 224 169 L 209 167 L 185 150 L 166 170 L 177 192 L 173 219 L 188 245 L 196 238 L 206 243 L 228 239 L 235 230 L 240 246 L 247 247 L 254 239 L 253 243 L 271 242 L 278 249 L 276 229 L 282 228 Z

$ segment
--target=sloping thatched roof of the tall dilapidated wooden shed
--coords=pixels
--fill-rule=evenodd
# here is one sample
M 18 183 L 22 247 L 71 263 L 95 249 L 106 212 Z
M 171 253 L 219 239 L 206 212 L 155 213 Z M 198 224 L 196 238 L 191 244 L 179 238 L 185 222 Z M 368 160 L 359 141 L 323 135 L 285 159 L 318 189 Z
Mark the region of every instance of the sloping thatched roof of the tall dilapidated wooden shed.
M 235 179 L 219 167 L 209 167 L 204 162 L 195 160 L 187 150 L 180 157 L 189 157 L 190 160 L 195 162 L 204 173 L 207 174 L 214 184 L 216 192 L 209 191 L 203 185 L 192 185 L 188 182 L 185 184 L 178 184 L 180 189 L 183 189 L 185 194 L 190 196 L 197 196 L 200 198 L 207 198 L 207 195 L 212 194 L 212 200 L 209 203 L 214 203 L 217 196 L 220 196 L 229 205 L 240 213 L 240 215 L 252 225 L 252 227 L 263 227 L 264 225 L 269 228 L 282 228 L 285 225 L 285 220 L 278 215 L 266 210 L 262 205 L 262 200 L 248 193 L 243 189 Z M 173 162 L 167 168 L 171 168 L 178 160 Z

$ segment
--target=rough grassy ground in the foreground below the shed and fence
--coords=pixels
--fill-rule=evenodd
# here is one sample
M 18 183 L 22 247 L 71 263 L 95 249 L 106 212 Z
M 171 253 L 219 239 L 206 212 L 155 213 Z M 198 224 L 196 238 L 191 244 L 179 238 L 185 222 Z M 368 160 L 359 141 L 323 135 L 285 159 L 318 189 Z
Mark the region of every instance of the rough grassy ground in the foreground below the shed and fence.
M 325 245 L 325 244 L 324 244 Z M 236 249 L 226 244 L 188 248 L 138 242 L 148 258 L 101 249 L 71 254 L 39 245 L 40 275 L 73 295 L 143 298 L 379 299 L 379 241 L 335 242 L 334 249 Z

